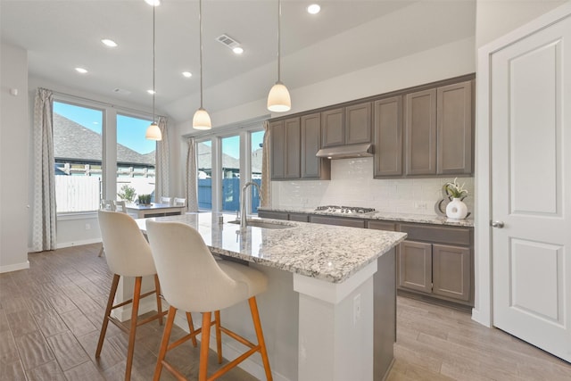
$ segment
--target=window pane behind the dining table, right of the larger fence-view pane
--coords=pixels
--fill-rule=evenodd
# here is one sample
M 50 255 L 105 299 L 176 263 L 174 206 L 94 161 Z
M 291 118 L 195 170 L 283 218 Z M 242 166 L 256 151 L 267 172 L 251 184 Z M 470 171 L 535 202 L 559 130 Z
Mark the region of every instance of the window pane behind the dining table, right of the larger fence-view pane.
M 151 195 L 154 201 L 157 145 L 145 139 L 150 124 L 151 120 L 117 115 L 117 198 L 128 203 L 136 202 L 139 195 Z

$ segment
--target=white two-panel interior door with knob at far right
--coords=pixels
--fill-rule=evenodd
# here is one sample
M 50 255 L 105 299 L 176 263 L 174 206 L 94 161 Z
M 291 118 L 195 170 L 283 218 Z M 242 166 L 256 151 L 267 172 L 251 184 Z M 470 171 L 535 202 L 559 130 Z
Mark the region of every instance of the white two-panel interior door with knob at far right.
M 491 66 L 493 325 L 571 361 L 571 17 Z

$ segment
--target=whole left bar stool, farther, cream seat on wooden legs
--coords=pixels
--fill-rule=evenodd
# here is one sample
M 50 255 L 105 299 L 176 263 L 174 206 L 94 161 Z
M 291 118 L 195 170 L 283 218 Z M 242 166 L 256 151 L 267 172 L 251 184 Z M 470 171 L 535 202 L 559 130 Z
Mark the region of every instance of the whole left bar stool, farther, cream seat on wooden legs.
M 137 327 L 156 319 L 159 319 L 159 324 L 162 325 L 162 317 L 166 314 L 166 311 L 162 311 L 161 286 L 159 284 L 159 277 L 157 277 L 157 271 L 154 268 L 151 248 L 145 236 L 143 236 L 143 233 L 141 233 L 141 230 L 138 228 L 137 222 L 129 217 L 128 214 L 119 211 L 100 210 L 97 216 L 101 236 L 103 238 L 103 246 L 105 247 L 105 259 L 109 269 L 111 269 L 113 273 L 113 280 L 107 301 L 107 308 L 105 309 L 101 334 L 99 335 L 99 342 L 97 343 L 97 350 L 95 351 L 95 358 L 99 358 L 101 355 L 107 325 L 111 321 L 117 327 L 120 327 L 121 330 L 128 333 L 125 380 L 129 380 L 133 366 L 133 352 L 135 349 Z M 155 289 L 146 294 L 141 294 L 143 277 L 151 275 L 154 277 Z M 135 290 L 132 299 L 113 305 L 120 277 L 135 277 Z M 138 320 L 139 301 L 151 294 L 155 294 L 158 312 L 147 319 Z M 128 303 L 132 303 L 129 329 L 123 327 L 118 319 L 111 316 L 112 310 L 127 305 Z M 192 325 L 192 323 L 189 322 L 189 325 Z

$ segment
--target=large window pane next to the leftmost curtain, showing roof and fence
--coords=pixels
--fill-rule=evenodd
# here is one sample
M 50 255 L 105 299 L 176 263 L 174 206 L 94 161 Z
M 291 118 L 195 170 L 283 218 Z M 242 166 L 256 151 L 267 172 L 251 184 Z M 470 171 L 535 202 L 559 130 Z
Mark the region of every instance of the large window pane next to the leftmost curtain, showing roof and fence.
M 96 211 L 101 199 L 103 111 L 54 102 L 58 213 Z

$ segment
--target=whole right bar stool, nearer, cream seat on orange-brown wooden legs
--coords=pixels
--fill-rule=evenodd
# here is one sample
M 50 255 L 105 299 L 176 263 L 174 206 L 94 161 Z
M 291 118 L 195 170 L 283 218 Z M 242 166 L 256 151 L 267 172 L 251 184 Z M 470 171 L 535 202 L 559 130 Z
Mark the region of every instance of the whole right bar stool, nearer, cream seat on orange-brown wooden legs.
M 181 310 L 203 313 L 202 327 L 186 337 L 188 339 L 198 332 L 202 333 L 199 381 L 213 380 L 222 376 L 255 352 L 260 352 L 266 378 L 271 380 L 268 352 L 256 303 L 256 295 L 264 292 L 268 286 L 267 277 L 256 269 L 236 262 L 216 261 L 204 244 L 203 237 L 186 224 L 149 220 L 146 222 L 146 230 L 161 279 L 162 293 L 170 304 L 153 379 L 159 380 L 163 366 L 178 379 L 184 379 L 184 376 L 165 359 L 167 351 L 183 342 L 179 339 L 178 342 L 170 344 L 170 331 L 175 315 L 177 310 Z M 252 344 L 241 335 L 220 326 L 219 311 L 246 300 L 250 304 L 258 344 Z M 211 321 L 211 311 L 214 311 L 214 323 Z M 212 325 L 216 329 L 219 363 L 222 362 L 220 332 L 244 344 L 248 350 L 208 377 L 208 353 Z

